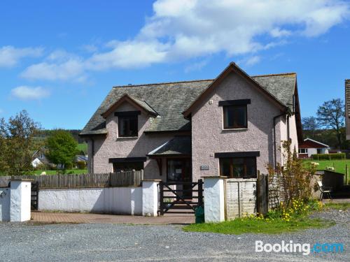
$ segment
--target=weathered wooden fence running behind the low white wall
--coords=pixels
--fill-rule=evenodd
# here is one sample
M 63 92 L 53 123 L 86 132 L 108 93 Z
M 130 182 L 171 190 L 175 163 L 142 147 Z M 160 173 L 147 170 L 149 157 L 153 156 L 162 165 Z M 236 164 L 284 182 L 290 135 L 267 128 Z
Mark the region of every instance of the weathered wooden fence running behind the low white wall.
M 0 176 L 0 187 L 8 187 L 10 179 L 32 179 L 40 188 L 140 187 L 144 170 L 83 175 L 15 175 Z

